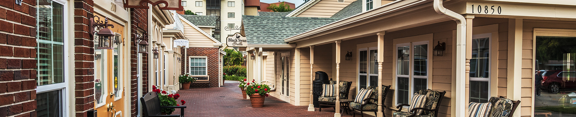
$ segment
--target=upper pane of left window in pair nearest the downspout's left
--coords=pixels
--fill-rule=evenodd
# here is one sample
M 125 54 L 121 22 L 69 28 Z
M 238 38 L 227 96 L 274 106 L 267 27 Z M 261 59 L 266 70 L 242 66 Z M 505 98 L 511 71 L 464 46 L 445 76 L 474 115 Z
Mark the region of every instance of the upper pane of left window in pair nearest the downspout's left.
M 410 47 L 398 47 L 397 73 L 399 75 L 410 74 Z

